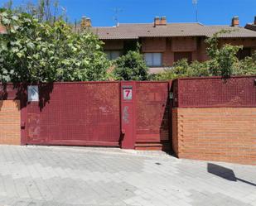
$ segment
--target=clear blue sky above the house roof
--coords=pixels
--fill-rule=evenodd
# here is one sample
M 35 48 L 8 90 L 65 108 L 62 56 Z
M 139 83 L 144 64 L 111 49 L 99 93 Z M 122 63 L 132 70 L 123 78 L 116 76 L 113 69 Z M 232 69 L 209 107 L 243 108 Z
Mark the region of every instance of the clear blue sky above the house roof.
M 36 0 L 31 0 L 36 1 Z M 6 0 L 0 0 L 0 6 Z M 20 5 L 26 0 L 13 0 Z M 192 0 L 59 0 L 70 22 L 90 17 L 93 26 L 114 26 L 115 10 L 119 23 L 149 23 L 154 17 L 167 17 L 167 22 L 196 22 Z M 238 16 L 240 25 L 254 22 L 256 0 L 197 0 L 198 22 L 205 25 L 230 25 Z

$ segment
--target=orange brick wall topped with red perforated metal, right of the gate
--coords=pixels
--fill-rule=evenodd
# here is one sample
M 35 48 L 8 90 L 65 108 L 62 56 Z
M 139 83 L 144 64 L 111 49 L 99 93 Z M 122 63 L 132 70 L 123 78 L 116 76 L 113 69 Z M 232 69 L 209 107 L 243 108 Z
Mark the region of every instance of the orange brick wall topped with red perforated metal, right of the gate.
M 256 165 L 256 77 L 178 79 L 172 146 L 179 158 Z

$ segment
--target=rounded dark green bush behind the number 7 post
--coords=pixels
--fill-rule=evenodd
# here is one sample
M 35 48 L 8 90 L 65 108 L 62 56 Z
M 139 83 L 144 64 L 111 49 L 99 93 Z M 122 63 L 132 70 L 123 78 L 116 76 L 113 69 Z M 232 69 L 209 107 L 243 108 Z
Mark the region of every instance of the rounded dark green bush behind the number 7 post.
M 129 50 L 115 60 L 113 74 L 118 80 L 147 80 L 148 68 L 138 51 Z

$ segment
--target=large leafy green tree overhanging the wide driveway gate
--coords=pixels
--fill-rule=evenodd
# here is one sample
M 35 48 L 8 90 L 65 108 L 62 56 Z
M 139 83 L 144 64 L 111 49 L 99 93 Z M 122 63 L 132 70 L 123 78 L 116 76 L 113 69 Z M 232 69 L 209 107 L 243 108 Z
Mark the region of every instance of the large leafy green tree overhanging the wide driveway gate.
M 103 43 L 89 31 L 76 34 L 65 22 L 53 26 L 27 13 L 0 13 L 0 75 L 12 82 L 91 81 L 107 77 Z

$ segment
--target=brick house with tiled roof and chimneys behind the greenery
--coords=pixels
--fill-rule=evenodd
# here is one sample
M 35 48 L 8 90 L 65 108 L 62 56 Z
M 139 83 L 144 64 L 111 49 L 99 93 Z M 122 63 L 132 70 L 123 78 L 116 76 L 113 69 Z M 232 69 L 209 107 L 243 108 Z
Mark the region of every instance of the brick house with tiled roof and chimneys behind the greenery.
M 83 18 L 81 26 L 91 25 L 89 18 Z M 125 50 L 141 44 L 141 52 L 152 73 L 172 66 L 177 60 L 186 58 L 208 60 L 205 39 L 217 31 L 231 30 L 220 35 L 220 45 L 242 45 L 239 59 L 250 56 L 256 50 L 256 31 L 239 26 L 239 17 L 232 19 L 231 26 L 205 26 L 200 23 L 167 23 L 166 17 L 155 17 L 153 23 L 118 24 L 118 26 L 91 27 L 104 41 L 104 50 L 109 59 L 122 55 Z

